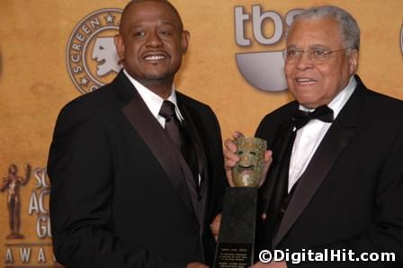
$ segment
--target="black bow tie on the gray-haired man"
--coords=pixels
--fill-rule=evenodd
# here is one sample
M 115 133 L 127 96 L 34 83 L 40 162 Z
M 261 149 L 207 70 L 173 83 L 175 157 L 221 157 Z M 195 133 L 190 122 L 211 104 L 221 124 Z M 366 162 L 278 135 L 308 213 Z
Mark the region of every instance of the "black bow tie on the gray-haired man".
M 327 105 L 319 106 L 314 112 L 305 112 L 294 110 L 292 112 L 292 121 L 297 130 L 308 124 L 312 119 L 318 119 L 324 122 L 333 122 L 333 110 Z

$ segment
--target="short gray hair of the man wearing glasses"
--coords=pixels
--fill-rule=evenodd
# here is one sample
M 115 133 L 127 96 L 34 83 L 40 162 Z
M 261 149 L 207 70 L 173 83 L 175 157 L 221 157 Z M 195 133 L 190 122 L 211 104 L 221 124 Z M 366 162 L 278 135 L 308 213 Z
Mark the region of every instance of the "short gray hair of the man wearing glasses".
M 340 7 L 334 5 L 311 7 L 295 16 L 294 22 L 323 18 L 333 18 L 336 20 L 345 41 L 345 48 L 360 50 L 360 27 L 358 27 L 358 23 L 354 17 Z

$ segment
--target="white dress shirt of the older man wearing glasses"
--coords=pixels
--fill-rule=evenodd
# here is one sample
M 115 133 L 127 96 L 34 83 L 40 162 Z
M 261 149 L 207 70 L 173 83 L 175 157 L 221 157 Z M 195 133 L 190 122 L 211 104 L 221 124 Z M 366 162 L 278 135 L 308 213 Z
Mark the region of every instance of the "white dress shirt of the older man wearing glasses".
M 339 94 L 337 94 L 330 103 L 327 104 L 327 106 L 333 110 L 335 120 L 339 112 L 345 106 L 345 103 L 347 103 L 348 99 L 354 93 L 356 85 L 357 81 L 355 81 L 354 76 L 352 76 L 348 85 L 345 86 L 345 88 Z M 309 110 L 302 105 L 300 105 L 300 110 L 308 112 L 313 111 L 312 109 Z M 325 137 L 325 134 L 327 133 L 327 130 L 329 130 L 331 124 L 332 123 L 315 119 L 309 121 L 308 124 L 306 124 L 300 130 L 297 130 L 297 135 L 295 137 L 291 152 L 288 192 L 291 192 L 292 186 L 297 183 L 297 181 L 300 179 L 300 175 L 304 173 L 310 162 L 310 159 L 317 150 L 323 137 Z

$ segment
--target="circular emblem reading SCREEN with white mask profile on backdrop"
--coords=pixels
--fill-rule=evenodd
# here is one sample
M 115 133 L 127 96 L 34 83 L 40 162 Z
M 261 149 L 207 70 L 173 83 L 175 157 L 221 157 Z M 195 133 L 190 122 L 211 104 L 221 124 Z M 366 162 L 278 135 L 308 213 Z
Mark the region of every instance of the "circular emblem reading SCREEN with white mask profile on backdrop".
M 67 70 L 76 88 L 92 92 L 109 83 L 121 70 L 114 36 L 121 9 L 105 8 L 90 13 L 76 24 L 67 42 Z

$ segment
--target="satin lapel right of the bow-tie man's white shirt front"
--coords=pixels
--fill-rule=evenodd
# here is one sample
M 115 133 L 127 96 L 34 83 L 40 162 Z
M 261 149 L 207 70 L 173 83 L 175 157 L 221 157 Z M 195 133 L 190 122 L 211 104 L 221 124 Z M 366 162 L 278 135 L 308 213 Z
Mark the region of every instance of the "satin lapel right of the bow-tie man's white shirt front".
M 291 226 L 300 217 L 300 214 L 305 210 L 315 192 L 318 191 L 320 184 L 336 163 L 336 159 L 360 130 L 360 116 L 361 111 L 363 111 L 365 92 L 361 80 L 358 77 L 356 78 L 358 85 L 354 94 L 345 103 L 345 107 L 327 131 L 314 156 L 312 156 L 307 169 L 300 176 L 297 188 L 291 197 L 278 232 L 273 239 L 274 247 L 279 244 L 282 237 L 285 236 Z

